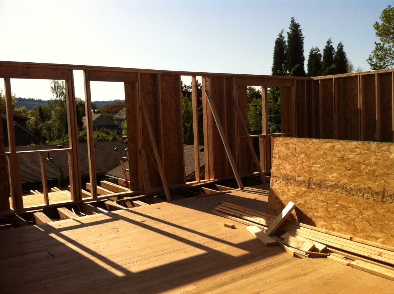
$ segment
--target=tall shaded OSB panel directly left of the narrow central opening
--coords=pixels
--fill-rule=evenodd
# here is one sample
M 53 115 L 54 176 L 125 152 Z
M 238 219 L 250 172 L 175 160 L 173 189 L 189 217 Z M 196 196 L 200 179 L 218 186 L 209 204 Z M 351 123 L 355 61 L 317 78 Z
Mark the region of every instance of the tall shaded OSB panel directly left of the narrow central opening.
M 164 171 L 168 185 L 185 183 L 180 76 L 160 77 L 163 120 Z

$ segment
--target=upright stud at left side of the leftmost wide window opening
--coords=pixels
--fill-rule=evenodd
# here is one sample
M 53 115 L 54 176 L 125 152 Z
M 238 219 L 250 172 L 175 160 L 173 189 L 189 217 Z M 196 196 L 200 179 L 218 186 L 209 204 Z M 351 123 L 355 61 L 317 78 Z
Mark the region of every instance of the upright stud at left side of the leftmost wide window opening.
M 8 169 L 10 175 L 11 201 L 14 210 L 23 208 L 22 183 L 20 179 L 19 156 L 16 153 L 14 109 L 11 95 L 11 81 L 4 78 L 4 95 L 6 98 L 8 146 L 11 155 L 8 156 Z

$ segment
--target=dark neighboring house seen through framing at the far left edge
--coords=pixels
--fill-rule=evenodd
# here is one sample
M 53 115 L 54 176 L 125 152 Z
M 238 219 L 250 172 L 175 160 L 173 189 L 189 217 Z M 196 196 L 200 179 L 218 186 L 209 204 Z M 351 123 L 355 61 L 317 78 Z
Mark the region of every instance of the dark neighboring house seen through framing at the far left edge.
M 7 115 L 6 111 L 1 112 L 2 124 L 3 124 L 3 134 L 4 134 L 4 146 L 8 147 L 8 129 L 7 129 Z M 41 141 L 33 133 L 31 133 L 27 128 L 26 124 L 29 118 L 17 115 L 14 113 L 14 129 L 15 129 L 15 143 L 16 146 L 28 146 L 32 144 L 40 144 Z

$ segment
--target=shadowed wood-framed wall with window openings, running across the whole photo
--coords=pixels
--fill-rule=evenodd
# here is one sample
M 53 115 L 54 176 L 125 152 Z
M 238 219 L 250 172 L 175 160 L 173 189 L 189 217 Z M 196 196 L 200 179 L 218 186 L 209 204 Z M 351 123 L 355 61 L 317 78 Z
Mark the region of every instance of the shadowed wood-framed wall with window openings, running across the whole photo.
M 140 151 L 145 150 L 147 170 L 152 188 L 162 187 L 162 180 L 154 157 L 152 142 L 147 137 L 147 121 L 141 112 L 144 102 L 149 116 L 154 141 L 162 163 L 165 179 L 169 186 L 185 184 L 185 165 L 182 132 L 182 94 L 181 76 L 202 77 L 203 93 L 208 89 L 214 107 L 234 160 L 241 176 L 253 174 L 251 153 L 240 126 L 240 119 L 247 122 L 247 86 L 263 87 L 262 120 L 264 130 L 260 140 L 260 166 L 265 172 L 271 168 L 271 137 L 307 137 L 323 139 L 350 139 L 369 141 L 394 141 L 394 71 L 380 70 L 346 75 L 314 78 L 258 76 L 243 74 L 219 74 L 208 72 L 180 72 L 165 70 L 145 70 L 137 68 L 91 67 L 83 65 L 61 65 L 42 63 L 18 63 L 0 61 L 0 78 L 5 79 L 7 113 L 12 113 L 11 78 L 35 78 L 65 80 L 67 96 L 67 122 L 69 126 L 70 146 L 62 152 L 69 156 L 71 201 L 82 201 L 78 133 L 76 128 L 76 106 L 74 94 L 73 70 L 85 73 L 86 109 L 91 109 L 90 81 L 119 81 L 125 84 L 125 99 L 128 128 L 128 159 L 130 166 L 130 192 L 144 191 Z M 279 87 L 281 90 L 282 133 L 269 134 L 266 94 L 267 87 Z M 192 89 L 193 90 L 193 89 Z M 194 93 L 194 94 L 193 94 Z M 234 110 L 235 100 L 240 107 L 242 117 Z M 192 91 L 195 102 L 196 93 Z M 197 116 L 197 104 L 193 104 L 193 115 Z M 8 195 L 11 195 L 13 207 L 25 209 L 22 203 L 20 170 L 13 138 L 13 116 L 7 116 L 10 151 L 2 149 L 0 134 L 0 164 L 6 158 L 11 166 L 10 187 L 0 185 L 0 209 L 8 209 Z M 89 168 L 91 185 L 95 184 L 95 161 L 93 129 L 88 116 L 89 128 Z M 195 127 L 197 126 L 197 120 Z M 234 176 L 228 163 L 223 143 L 217 132 L 212 113 L 203 95 L 204 129 L 204 165 L 205 180 L 223 179 Z M 198 145 L 198 128 L 194 130 Z M 197 139 L 197 140 L 196 140 Z M 13 143 L 14 142 L 14 143 Z M 23 152 L 22 152 L 23 153 Z M 195 148 L 195 154 L 198 149 Z M 261 154 L 260 154 L 261 155 Z M 37 154 L 37 156 L 41 156 Z M 197 170 L 197 165 L 195 167 Z M 45 174 L 45 171 L 43 172 Z M 0 174 L 0 178 L 4 178 Z M 196 181 L 201 181 L 196 177 Z M 4 183 L 4 181 L 3 181 Z M 95 189 L 92 189 L 95 191 Z M 93 199 L 99 196 L 93 192 Z

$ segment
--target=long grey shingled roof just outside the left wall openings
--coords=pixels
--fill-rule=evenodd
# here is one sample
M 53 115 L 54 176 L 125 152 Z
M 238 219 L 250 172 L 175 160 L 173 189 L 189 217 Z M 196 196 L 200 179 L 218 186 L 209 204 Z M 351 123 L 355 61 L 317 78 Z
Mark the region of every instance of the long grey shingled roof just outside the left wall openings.
M 123 141 L 102 141 L 95 142 L 95 154 L 96 154 L 96 172 L 97 174 L 104 174 L 119 165 L 119 159 L 114 151 L 117 147 L 118 150 L 123 154 L 127 145 Z M 63 148 L 68 148 L 68 144 L 63 144 Z M 58 149 L 57 145 L 39 145 L 39 146 L 21 146 L 17 147 L 17 151 L 24 150 L 46 150 L 46 149 Z M 87 142 L 79 143 L 80 149 L 80 163 L 81 163 L 81 175 L 89 174 L 89 161 L 87 155 Z M 8 152 L 8 148 L 6 148 Z M 123 155 L 124 156 L 124 155 Z M 46 156 L 47 157 L 47 154 Z M 65 177 L 69 176 L 68 168 L 68 157 L 67 152 L 50 152 L 50 160 L 46 160 L 46 177 L 47 179 L 57 179 L 59 178 L 59 170 L 53 164 L 60 163 L 63 169 Z M 20 154 L 20 176 L 22 183 L 41 181 L 41 167 L 38 154 Z M 8 170 L 8 169 L 7 169 Z

